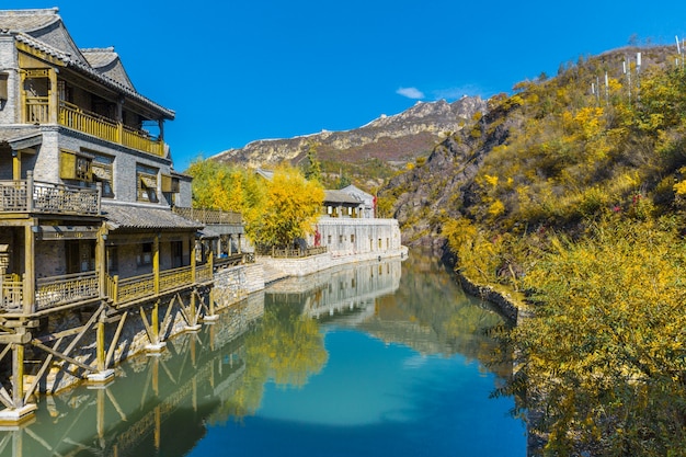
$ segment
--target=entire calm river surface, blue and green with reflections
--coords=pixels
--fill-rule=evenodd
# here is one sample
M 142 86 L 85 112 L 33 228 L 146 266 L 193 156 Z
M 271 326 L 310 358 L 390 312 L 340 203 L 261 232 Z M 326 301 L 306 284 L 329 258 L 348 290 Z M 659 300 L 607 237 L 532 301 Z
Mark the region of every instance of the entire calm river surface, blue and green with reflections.
M 39 398 L 0 456 L 525 456 L 489 398 L 499 323 L 415 253 L 279 282 L 104 389 Z

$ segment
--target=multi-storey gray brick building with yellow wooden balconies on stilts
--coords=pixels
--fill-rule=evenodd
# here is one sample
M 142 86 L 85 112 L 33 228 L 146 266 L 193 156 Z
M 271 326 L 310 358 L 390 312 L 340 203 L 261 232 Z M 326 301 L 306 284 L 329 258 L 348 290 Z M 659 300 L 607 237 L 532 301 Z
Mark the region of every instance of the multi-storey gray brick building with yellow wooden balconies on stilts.
M 191 206 L 173 118 L 114 48 L 79 48 L 57 9 L 0 11 L 0 422 L 31 414 L 39 386 L 104 382 L 213 313 L 204 224 L 171 210 Z M 142 341 L 123 344 L 132 328 Z

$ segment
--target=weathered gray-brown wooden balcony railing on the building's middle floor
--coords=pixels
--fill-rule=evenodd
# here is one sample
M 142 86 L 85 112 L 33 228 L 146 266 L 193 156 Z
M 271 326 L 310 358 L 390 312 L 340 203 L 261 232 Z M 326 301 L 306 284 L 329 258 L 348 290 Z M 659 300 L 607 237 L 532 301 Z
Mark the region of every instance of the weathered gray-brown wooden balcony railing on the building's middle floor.
M 33 180 L 0 181 L 0 213 L 100 215 L 100 188 Z

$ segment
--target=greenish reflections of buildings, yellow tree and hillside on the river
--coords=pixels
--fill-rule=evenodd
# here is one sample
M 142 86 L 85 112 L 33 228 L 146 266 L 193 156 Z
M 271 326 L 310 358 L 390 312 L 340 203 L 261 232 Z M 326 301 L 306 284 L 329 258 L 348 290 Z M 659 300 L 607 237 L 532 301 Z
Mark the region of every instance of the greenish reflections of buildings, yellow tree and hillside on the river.
M 422 264 L 412 262 L 404 262 L 409 270 L 400 259 L 382 260 L 278 282 L 214 324 L 169 340 L 160 355 L 122 364 L 104 388 L 38 398 L 31 423 L 0 431 L 0 457 L 184 455 L 206 424 L 254 413 L 267 380 L 299 385 L 320 370 L 327 363 L 321 324 L 358 327 L 425 353 L 455 343 L 455 322 L 499 321 L 473 299 L 451 297 L 449 274 L 427 282 Z M 439 309 L 427 310 L 427 302 Z M 464 340 L 453 350 L 470 357 L 489 351 L 481 336 Z M 297 361 L 278 353 L 290 343 L 289 351 L 304 347 Z

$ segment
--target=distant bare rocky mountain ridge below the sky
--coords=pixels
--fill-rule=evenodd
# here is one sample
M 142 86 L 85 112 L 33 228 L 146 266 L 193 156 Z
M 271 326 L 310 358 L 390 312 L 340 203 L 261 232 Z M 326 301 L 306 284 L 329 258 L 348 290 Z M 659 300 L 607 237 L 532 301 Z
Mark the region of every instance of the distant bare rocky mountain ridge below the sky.
M 379 118 L 352 130 L 328 132 L 285 139 L 262 139 L 243 148 L 222 151 L 210 160 L 249 167 L 268 167 L 283 161 L 298 163 L 316 146 L 319 160 L 359 163 L 378 159 L 400 167 L 432 148 L 449 134 L 471 124 L 477 112 L 485 111 L 480 98 L 464 96 L 453 103 L 418 102 L 409 110 Z

